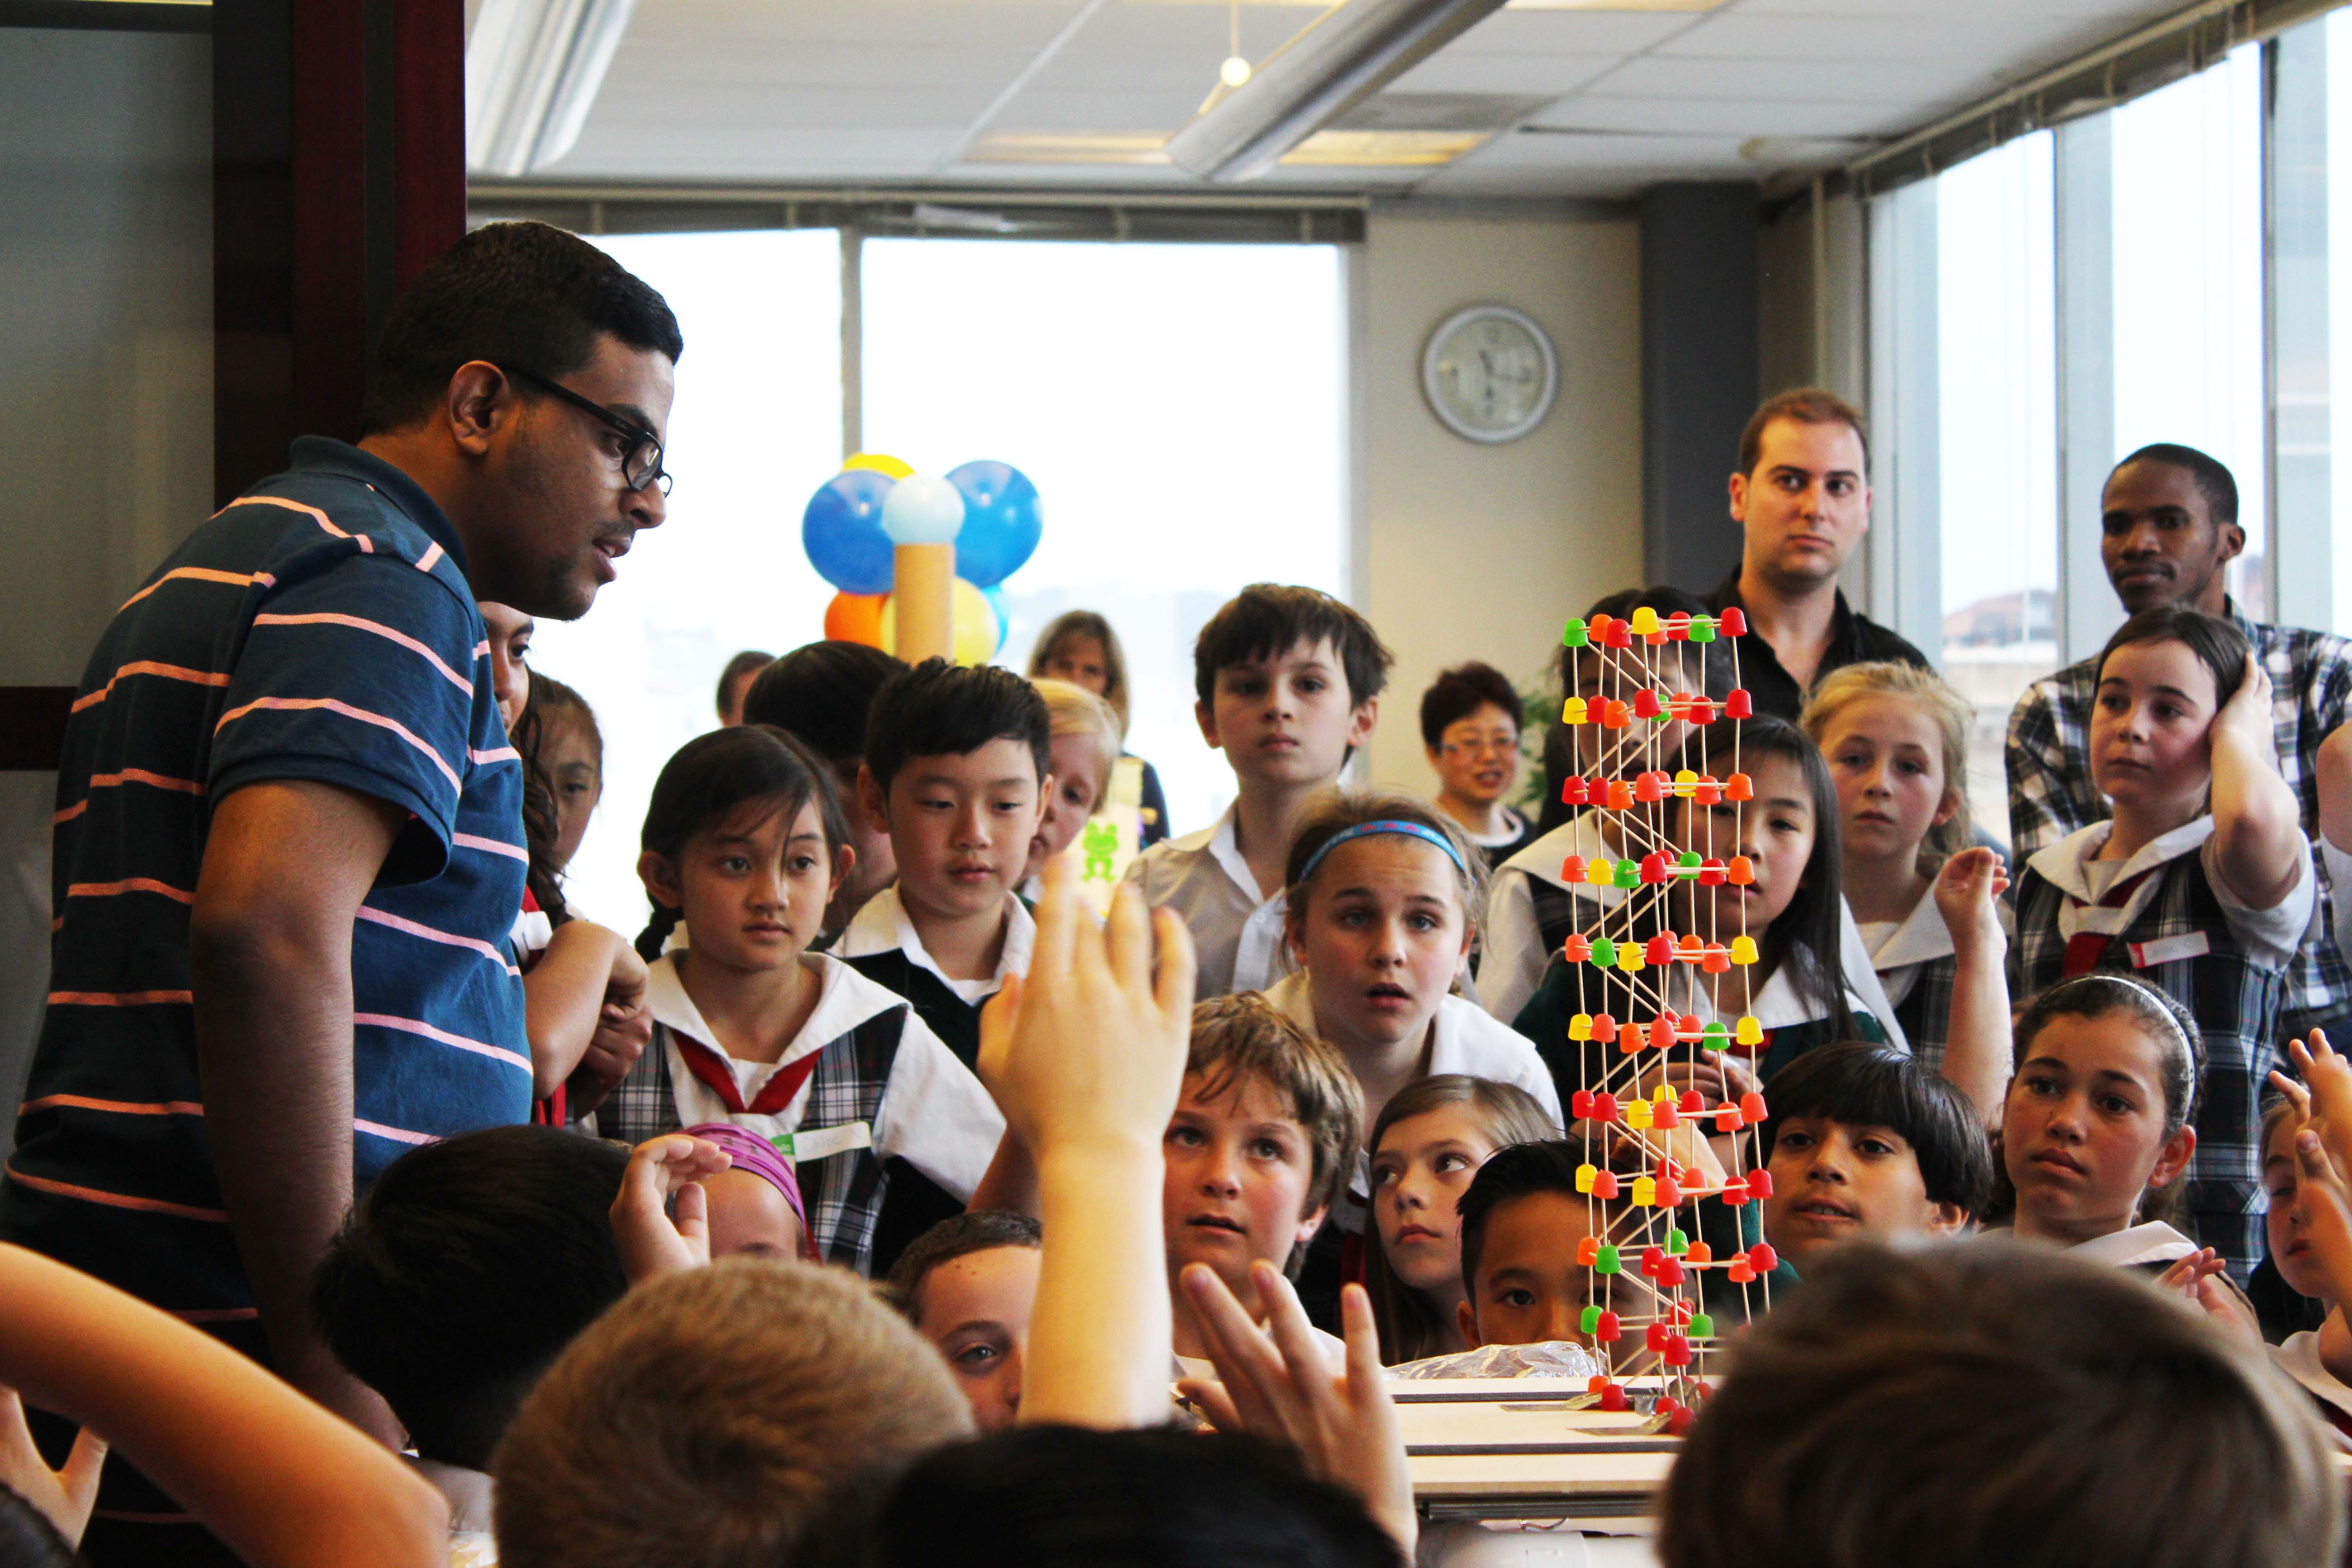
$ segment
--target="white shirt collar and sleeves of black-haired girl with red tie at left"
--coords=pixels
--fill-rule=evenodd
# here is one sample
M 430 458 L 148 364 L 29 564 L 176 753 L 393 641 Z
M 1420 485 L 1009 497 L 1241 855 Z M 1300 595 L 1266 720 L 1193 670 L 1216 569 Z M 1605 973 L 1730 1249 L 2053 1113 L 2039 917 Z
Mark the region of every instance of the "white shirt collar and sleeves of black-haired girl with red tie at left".
M 675 950 L 647 966 L 644 1001 L 654 1011 L 654 1023 L 670 1034 L 687 1034 L 710 1046 L 734 1074 L 736 1098 L 750 1105 L 767 1088 L 767 1081 L 793 1063 L 823 1051 L 868 1018 L 906 1006 L 906 997 L 868 980 L 830 954 L 804 952 L 800 961 L 814 971 L 823 990 L 809 1023 L 774 1063 L 746 1063 L 727 1056 L 727 1048 L 717 1044 L 717 1030 L 703 1020 L 694 997 L 677 978 Z M 800 1131 L 814 1079 L 802 1084 L 781 1112 L 731 1112 L 708 1084 L 694 1077 L 675 1039 L 666 1041 L 663 1048 L 670 1053 L 670 1095 L 677 1103 L 680 1126 L 731 1121 L 760 1138 Z M 889 1088 L 882 1091 L 882 1110 L 875 1114 L 875 1152 L 906 1159 L 957 1199 L 969 1201 L 1002 1138 L 1004 1114 L 997 1103 L 988 1098 L 971 1070 L 955 1060 L 938 1034 L 908 1009 L 898 1053 L 891 1058 Z

